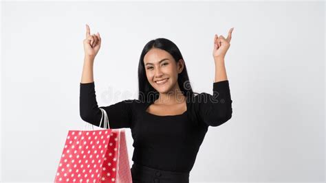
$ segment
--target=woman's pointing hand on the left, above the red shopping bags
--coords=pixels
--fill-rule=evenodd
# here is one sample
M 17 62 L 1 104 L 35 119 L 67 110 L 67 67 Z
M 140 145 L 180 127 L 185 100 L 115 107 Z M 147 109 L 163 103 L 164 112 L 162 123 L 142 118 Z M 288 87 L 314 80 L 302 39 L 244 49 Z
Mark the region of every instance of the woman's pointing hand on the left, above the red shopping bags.
M 83 42 L 84 42 L 85 56 L 94 59 L 96 54 L 98 53 L 98 50 L 100 50 L 100 43 L 101 43 L 100 34 L 97 33 L 91 35 L 89 26 L 86 25 L 86 38 Z

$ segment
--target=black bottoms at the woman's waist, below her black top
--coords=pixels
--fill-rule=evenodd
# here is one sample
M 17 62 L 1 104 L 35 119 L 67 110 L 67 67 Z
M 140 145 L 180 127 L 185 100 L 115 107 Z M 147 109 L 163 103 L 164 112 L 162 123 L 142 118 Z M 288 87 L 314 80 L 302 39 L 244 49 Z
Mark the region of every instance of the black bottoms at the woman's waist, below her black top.
M 131 167 L 133 183 L 189 183 L 189 173 L 162 171 L 133 163 Z

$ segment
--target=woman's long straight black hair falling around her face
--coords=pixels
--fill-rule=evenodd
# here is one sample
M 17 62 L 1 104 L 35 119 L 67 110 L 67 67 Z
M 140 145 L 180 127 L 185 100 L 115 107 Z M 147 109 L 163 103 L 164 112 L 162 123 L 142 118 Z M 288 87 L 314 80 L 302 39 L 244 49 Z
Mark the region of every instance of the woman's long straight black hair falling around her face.
M 144 46 L 144 49 L 142 49 L 142 54 L 140 55 L 138 64 L 138 99 L 140 101 L 155 101 L 155 99 L 157 99 L 157 97 L 160 95 L 160 93 L 158 93 L 157 90 L 155 90 L 155 88 L 153 88 L 153 86 L 151 86 L 147 80 L 144 66 L 144 56 L 152 48 L 163 49 L 169 52 L 171 56 L 173 56 L 175 62 L 179 62 L 180 59 L 184 60 L 177 45 L 175 45 L 175 43 L 169 39 L 157 38 L 147 42 L 147 44 Z M 189 81 L 186 69 L 186 63 L 184 63 L 184 69 L 182 72 L 178 74 L 177 83 L 179 84 L 183 95 L 185 95 L 187 99 L 191 99 L 194 94 L 198 94 L 193 92 L 193 89 L 191 88 L 191 83 Z

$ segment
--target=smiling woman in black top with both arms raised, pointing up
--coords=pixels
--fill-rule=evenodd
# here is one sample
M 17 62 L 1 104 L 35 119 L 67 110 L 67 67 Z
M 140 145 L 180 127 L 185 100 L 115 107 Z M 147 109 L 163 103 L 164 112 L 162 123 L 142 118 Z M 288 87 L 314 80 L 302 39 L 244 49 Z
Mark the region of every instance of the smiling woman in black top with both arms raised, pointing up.
M 171 40 L 157 38 L 145 45 L 140 56 L 138 99 L 100 108 L 94 90 L 93 64 L 102 40 L 100 34 L 90 34 L 88 25 L 86 28 L 80 117 L 100 126 L 102 108 L 107 112 L 109 128 L 131 128 L 133 182 L 189 182 L 208 127 L 221 125 L 232 117 L 224 57 L 233 28 L 227 38 L 215 34 L 213 95 L 193 92 L 180 50 Z

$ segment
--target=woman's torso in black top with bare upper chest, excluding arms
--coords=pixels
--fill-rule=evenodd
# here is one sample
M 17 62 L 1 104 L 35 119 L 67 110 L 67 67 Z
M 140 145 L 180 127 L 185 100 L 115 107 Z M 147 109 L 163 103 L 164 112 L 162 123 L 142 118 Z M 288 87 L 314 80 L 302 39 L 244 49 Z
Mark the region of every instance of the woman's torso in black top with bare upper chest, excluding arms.
M 154 169 L 190 172 L 208 130 L 197 121 L 195 100 L 184 99 L 171 106 L 153 100 L 135 104 L 131 125 L 133 162 Z

